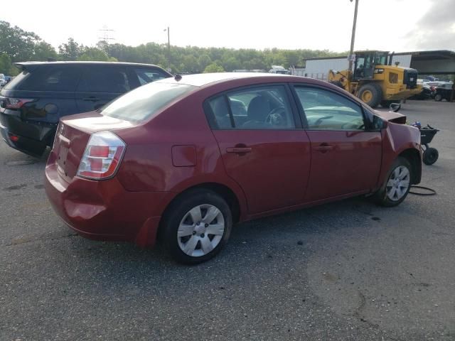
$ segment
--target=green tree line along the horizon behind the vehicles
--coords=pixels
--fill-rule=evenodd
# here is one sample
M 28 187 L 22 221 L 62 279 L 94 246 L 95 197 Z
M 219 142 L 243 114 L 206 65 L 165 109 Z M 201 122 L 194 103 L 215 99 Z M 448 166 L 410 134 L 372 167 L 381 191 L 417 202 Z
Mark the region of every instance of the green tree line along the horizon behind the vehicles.
M 304 40 L 302 40 L 302 45 Z M 13 63 L 28 60 L 97 60 L 148 63 L 171 67 L 172 72 L 224 72 L 232 70 L 269 70 L 272 65 L 284 67 L 304 66 L 306 58 L 346 55 L 330 50 L 265 50 L 233 48 L 179 47 L 167 44 L 146 43 L 129 46 L 107 43 L 100 40 L 89 47 L 77 43 L 73 38 L 58 46 L 58 50 L 46 43 L 36 33 L 27 32 L 6 21 L 0 21 L 0 73 L 17 75 L 19 70 Z

